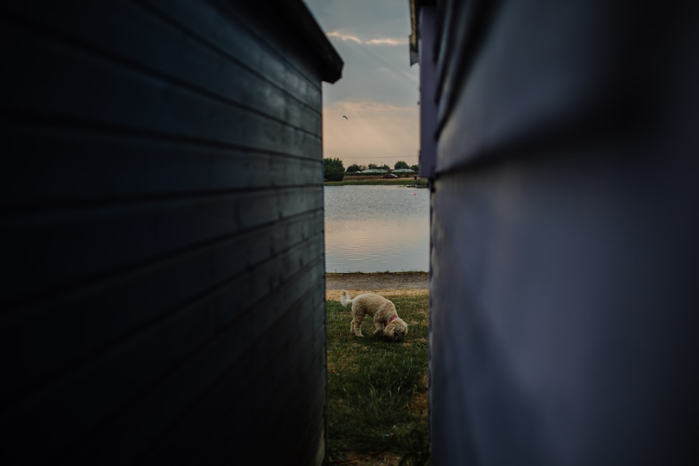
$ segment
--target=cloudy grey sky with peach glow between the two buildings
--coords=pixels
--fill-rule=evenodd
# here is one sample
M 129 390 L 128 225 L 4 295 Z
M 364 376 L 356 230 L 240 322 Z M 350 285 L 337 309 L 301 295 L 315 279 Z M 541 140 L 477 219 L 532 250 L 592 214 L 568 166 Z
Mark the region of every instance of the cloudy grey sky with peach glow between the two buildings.
M 410 66 L 408 0 L 304 3 L 345 62 L 340 80 L 323 83 L 323 156 L 345 168 L 417 165 L 419 68 Z

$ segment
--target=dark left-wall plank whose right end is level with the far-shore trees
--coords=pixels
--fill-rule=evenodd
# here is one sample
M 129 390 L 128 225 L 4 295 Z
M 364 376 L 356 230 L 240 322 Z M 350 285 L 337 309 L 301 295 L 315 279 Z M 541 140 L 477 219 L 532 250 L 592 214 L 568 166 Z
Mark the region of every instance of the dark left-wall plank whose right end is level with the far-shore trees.
M 323 180 L 320 159 L 33 129 L 11 124 L 4 141 L 9 159 L 0 173 L 0 194 L 6 214 L 300 188 Z

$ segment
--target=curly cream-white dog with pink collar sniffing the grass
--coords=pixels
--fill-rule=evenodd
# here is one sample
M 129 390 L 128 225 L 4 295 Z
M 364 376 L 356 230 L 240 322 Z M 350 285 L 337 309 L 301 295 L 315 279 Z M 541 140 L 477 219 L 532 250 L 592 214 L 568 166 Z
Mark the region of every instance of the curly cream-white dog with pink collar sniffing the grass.
M 352 305 L 354 319 L 349 326 L 349 331 L 358 337 L 364 336 L 361 334 L 361 321 L 364 320 L 366 314 L 374 318 L 374 335 L 380 335 L 383 332 L 392 340 L 400 340 L 408 335 L 408 324 L 398 317 L 394 303 L 383 296 L 375 293 L 364 293 L 352 299 L 349 298 L 349 293 L 343 290 L 340 295 L 340 304 L 345 307 Z

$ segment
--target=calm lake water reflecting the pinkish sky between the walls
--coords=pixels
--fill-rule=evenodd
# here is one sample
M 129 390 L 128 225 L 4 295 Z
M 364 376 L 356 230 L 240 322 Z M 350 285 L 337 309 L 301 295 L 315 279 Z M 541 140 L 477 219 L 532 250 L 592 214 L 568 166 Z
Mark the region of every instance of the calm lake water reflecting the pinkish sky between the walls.
M 429 270 L 429 189 L 326 186 L 327 272 Z

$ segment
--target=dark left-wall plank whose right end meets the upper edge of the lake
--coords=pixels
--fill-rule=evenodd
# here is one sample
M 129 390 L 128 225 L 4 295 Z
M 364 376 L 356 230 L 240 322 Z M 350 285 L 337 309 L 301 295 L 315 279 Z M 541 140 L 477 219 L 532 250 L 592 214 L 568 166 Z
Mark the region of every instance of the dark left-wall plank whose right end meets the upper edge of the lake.
M 275 189 L 0 219 L 0 234 L 6 238 L 0 251 L 14 264 L 5 305 L 22 302 L 40 289 L 60 289 L 215 238 L 321 212 L 322 189 Z

